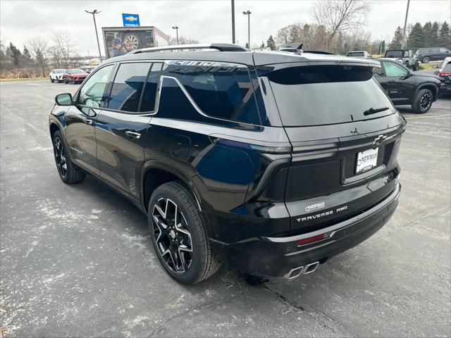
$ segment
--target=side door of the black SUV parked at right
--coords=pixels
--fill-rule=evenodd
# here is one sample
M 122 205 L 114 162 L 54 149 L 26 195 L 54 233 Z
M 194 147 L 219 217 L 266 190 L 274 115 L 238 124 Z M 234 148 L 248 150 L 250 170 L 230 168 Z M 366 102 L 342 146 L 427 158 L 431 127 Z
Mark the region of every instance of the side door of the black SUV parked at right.
M 414 94 L 415 82 L 409 77 L 409 70 L 399 63 L 381 61 L 384 77 L 378 79 L 393 104 L 410 104 Z

